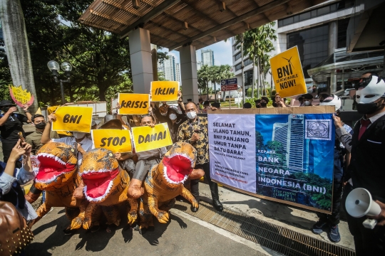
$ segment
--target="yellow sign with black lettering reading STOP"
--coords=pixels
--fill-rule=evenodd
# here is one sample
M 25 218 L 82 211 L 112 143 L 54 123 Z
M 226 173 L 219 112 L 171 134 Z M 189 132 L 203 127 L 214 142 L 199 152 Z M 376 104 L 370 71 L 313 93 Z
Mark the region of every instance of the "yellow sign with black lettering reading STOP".
M 109 149 L 113 153 L 132 151 L 131 134 L 126 129 L 93 129 L 92 141 L 95 148 Z

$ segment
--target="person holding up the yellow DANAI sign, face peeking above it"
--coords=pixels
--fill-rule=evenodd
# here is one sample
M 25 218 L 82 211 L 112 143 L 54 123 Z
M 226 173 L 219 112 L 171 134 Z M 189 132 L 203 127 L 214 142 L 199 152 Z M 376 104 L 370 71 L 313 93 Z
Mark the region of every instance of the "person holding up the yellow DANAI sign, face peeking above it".
M 141 126 L 155 127 L 155 118 L 152 114 L 144 114 L 140 119 Z M 134 128 L 135 129 L 135 128 Z M 135 173 L 128 187 L 130 198 L 140 198 L 143 195 L 142 182 L 153 165 L 158 164 L 167 150 L 165 147 L 148 151 L 137 152 L 138 162 L 135 166 Z

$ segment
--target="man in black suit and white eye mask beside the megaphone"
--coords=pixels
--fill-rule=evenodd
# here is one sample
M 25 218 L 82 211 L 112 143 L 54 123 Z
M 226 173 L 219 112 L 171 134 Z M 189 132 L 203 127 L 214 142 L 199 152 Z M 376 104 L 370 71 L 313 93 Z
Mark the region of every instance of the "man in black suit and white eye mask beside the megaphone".
M 353 218 L 347 214 L 356 255 L 385 255 L 385 82 L 374 73 L 365 73 L 356 86 L 357 111 L 364 116 L 356 122 L 351 144 L 351 162 L 344 181 L 343 205 L 354 188 L 365 188 L 381 207 L 381 213 L 371 217 L 378 221 L 371 230 L 362 225 L 366 216 Z M 337 129 L 338 130 L 338 129 Z M 342 131 L 343 132 L 343 131 Z M 346 193 L 346 194 L 345 194 Z

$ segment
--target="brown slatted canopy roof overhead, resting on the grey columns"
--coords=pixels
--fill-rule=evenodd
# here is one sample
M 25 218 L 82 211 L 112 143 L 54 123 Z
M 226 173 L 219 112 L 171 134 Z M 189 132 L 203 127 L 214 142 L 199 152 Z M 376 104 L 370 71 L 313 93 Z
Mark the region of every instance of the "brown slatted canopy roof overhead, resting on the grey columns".
M 326 0 L 96 0 L 81 23 L 119 34 L 150 31 L 151 43 L 198 50 Z

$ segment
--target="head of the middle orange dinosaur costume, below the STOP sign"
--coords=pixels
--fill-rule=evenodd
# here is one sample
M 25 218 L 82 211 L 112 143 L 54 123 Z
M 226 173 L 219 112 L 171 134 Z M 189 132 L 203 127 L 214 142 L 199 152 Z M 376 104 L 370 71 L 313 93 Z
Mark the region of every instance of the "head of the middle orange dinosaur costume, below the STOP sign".
M 113 188 L 120 185 L 120 167 L 113 153 L 107 149 L 92 149 L 83 156 L 79 175 L 83 179 L 84 194 L 90 202 L 106 200 Z

